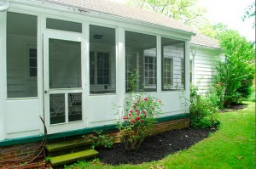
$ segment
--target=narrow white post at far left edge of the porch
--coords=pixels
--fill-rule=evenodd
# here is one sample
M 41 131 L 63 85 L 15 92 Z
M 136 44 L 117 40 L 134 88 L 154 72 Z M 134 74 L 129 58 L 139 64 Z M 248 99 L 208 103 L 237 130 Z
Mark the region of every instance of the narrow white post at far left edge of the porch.
M 7 98 L 7 70 L 6 70 L 6 26 L 7 12 L 0 11 L 0 141 L 6 138 L 6 109 L 5 99 Z

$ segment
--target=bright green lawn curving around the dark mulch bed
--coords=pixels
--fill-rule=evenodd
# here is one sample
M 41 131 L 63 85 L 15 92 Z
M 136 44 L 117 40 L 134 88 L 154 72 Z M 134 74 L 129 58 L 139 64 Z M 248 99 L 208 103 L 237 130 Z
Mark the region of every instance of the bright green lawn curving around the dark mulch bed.
M 255 168 L 255 103 L 246 102 L 247 108 L 219 113 L 221 126 L 189 149 L 168 155 L 161 161 L 140 165 L 103 165 L 99 160 L 80 161 L 67 168 Z

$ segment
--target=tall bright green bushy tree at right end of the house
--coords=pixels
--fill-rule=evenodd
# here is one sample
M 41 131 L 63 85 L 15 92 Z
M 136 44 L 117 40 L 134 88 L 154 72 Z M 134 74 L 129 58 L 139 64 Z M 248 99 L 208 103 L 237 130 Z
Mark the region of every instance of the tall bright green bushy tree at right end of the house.
M 254 77 L 253 42 L 247 42 L 237 31 L 227 30 L 219 35 L 219 44 L 224 51 L 224 60 L 219 60 L 214 76 L 221 107 L 230 107 L 249 97 Z

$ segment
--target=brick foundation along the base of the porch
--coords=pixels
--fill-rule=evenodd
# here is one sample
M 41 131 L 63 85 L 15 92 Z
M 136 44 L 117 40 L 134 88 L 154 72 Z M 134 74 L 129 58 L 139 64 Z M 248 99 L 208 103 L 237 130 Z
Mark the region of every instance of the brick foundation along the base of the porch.
M 172 129 L 186 128 L 186 127 L 189 127 L 189 118 L 182 118 L 182 119 L 171 120 L 171 121 L 160 121 L 154 125 L 154 132 L 152 134 L 166 132 Z M 115 137 L 115 142 L 119 142 L 119 132 L 115 130 L 115 132 L 110 132 L 109 135 L 112 135 Z M 58 138 L 58 140 L 61 140 L 61 138 Z M 6 163 L 14 159 L 27 161 L 28 159 L 24 159 L 24 158 L 26 158 L 26 156 L 28 155 L 31 155 L 30 156 L 31 158 L 35 157 L 35 155 L 38 155 L 38 152 L 36 151 L 40 147 L 40 144 L 41 143 L 39 142 L 39 143 L 18 144 L 18 145 L 0 147 L 0 166 L 1 166 L 1 163 L 3 162 Z M 44 155 L 44 153 L 42 152 L 41 155 Z

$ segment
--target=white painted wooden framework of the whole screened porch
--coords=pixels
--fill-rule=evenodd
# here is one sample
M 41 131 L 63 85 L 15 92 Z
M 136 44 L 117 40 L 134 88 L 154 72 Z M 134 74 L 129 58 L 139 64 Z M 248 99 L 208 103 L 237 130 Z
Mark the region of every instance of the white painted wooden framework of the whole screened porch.
M 15 3 L 13 3 L 15 2 Z M 127 31 L 135 31 L 148 35 L 153 35 L 157 37 L 157 92 L 151 93 L 155 95 L 157 98 L 161 99 L 164 106 L 163 112 L 161 116 L 166 115 L 177 115 L 181 113 L 188 112 L 187 108 L 184 106 L 183 93 L 180 91 L 166 91 L 161 92 L 161 37 L 168 37 L 177 40 L 189 40 L 190 34 L 186 34 L 181 31 L 172 31 L 170 29 L 166 29 L 163 27 L 158 27 L 156 25 L 147 25 L 145 23 L 138 23 L 135 20 L 124 20 L 115 18 L 113 16 L 101 15 L 101 14 L 80 14 L 78 11 L 72 11 L 68 8 L 61 7 L 51 7 L 47 4 L 41 4 L 37 2 L 31 1 L 20 1 L 11 0 L 11 7 L 9 11 L 22 13 L 22 14 L 36 14 L 38 15 L 38 97 L 30 98 L 30 99 L 6 99 L 6 58 L 5 56 L 5 25 L 0 25 L 0 32 L 3 33 L 3 37 L 0 37 L 0 87 L 3 90 L 0 90 L 0 140 L 4 138 L 19 138 L 26 136 L 33 136 L 37 134 L 41 134 L 44 132 L 44 127 L 42 122 L 39 121 L 38 116 L 44 115 L 44 120 L 46 121 L 46 125 L 48 127 L 49 133 L 56 132 L 67 132 L 76 129 L 81 129 L 84 127 L 97 127 L 102 125 L 114 124 L 117 118 L 115 115 L 115 110 L 113 109 L 113 104 L 123 105 L 125 103 L 125 30 Z M 55 31 L 46 29 L 45 20 L 46 18 L 54 18 L 59 20 L 68 20 L 82 23 L 83 33 L 75 33 L 75 32 L 67 32 L 67 31 Z M 0 13 L 0 19 L 5 20 L 6 16 L 4 13 Z M 1 22 L 2 23 L 2 22 Z M 3 22 L 6 23 L 6 22 Z M 116 30 L 116 44 L 115 50 L 116 52 L 116 93 L 111 94 L 90 94 L 90 65 L 89 65 L 89 24 L 91 25 L 100 25 L 115 28 Z M 184 34 L 183 34 L 184 33 Z M 183 35 L 182 35 L 183 34 Z M 43 37 L 44 36 L 44 37 Z M 44 38 L 44 41 L 43 41 Z M 48 51 L 49 51 L 49 38 L 56 38 L 62 40 L 72 40 L 77 42 L 82 42 L 81 48 L 81 87 L 72 88 L 72 89 L 50 89 L 49 90 L 49 60 L 48 60 Z M 32 42 L 32 41 L 30 41 Z M 44 47 L 44 48 L 43 48 Z M 3 50 L 2 50 L 3 48 Z M 189 42 L 186 42 L 186 90 L 184 94 L 186 97 L 189 96 L 189 76 L 188 76 L 188 59 L 189 59 Z M 43 57 L 44 51 L 44 57 Z M 177 54 L 176 51 L 170 51 L 170 54 Z M 148 54 L 154 54 L 155 51 L 148 50 Z M 182 51 L 178 52 L 178 54 L 183 54 Z M 44 59 L 43 59 L 44 58 Z M 43 61 L 44 61 L 44 69 L 43 69 Z M 207 63 L 210 60 L 207 59 Z M 59 62 L 61 63 L 61 61 Z M 8 63 L 9 64 L 9 63 Z M 12 67 L 15 68 L 13 74 L 11 76 L 15 76 L 10 82 L 21 81 L 23 78 L 24 68 L 18 68 L 15 66 L 15 63 L 12 64 Z M 200 64 L 200 63 L 199 63 Z M 60 65 L 55 65 L 56 68 L 59 68 Z M 181 76 L 180 73 L 180 60 L 175 60 L 175 75 Z M 202 68 L 201 68 L 202 69 Z M 44 70 L 44 72 L 43 72 Z M 206 71 L 207 72 L 207 71 Z M 60 72 L 58 76 L 63 75 L 73 75 L 71 71 L 69 72 Z M 44 76 L 44 79 L 43 79 Z M 69 77 L 70 79 L 73 77 Z M 177 78 L 178 79 L 178 78 Z M 179 78 L 180 79 L 180 78 Z M 181 82 L 180 80 L 177 82 Z M 44 85 L 43 85 L 44 84 Z M 24 92 L 27 88 L 20 85 L 19 87 L 14 87 L 14 90 L 18 90 L 15 92 Z M 24 91 L 23 91 L 24 90 Z M 49 93 L 63 93 L 66 96 L 67 102 L 67 93 L 82 93 L 83 100 L 83 121 L 75 121 L 62 123 L 58 125 L 49 125 L 49 93 L 44 94 L 44 90 Z M 32 104 L 32 106 L 30 106 Z M 3 106 L 2 106 L 3 105 Z M 5 107 L 5 106 L 8 106 Z M 45 111 L 44 111 L 45 110 Z M 67 110 L 67 105 L 66 105 Z M 32 113 L 35 112 L 36 113 Z M 8 116 L 6 116 L 8 113 Z M 122 107 L 119 111 L 119 114 L 124 113 L 124 108 Z M 66 112 L 67 114 L 67 112 Z M 12 115 L 15 115 L 15 118 L 12 119 Z M 23 115 L 22 117 L 19 117 Z M 29 116 L 29 118 L 26 118 Z M 2 118 L 3 117 L 3 118 Z M 22 120 L 22 121 L 19 121 Z M 5 122 L 7 121 L 8 122 Z M 2 123 L 3 121 L 3 123 Z M 11 122 L 9 122 L 11 121 Z M 16 122 L 15 125 L 13 121 Z M 66 119 L 67 121 L 67 119 Z M 9 124 L 7 124 L 9 123 Z M 23 127 L 20 127 L 26 123 Z M 8 131 L 8 134 L 7 134 Z M 2 133 L 3 132 L 3 133 Z M 6 136 L 8 135 L 8 136 Z

